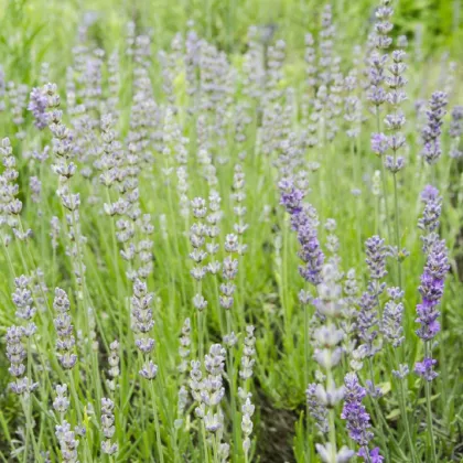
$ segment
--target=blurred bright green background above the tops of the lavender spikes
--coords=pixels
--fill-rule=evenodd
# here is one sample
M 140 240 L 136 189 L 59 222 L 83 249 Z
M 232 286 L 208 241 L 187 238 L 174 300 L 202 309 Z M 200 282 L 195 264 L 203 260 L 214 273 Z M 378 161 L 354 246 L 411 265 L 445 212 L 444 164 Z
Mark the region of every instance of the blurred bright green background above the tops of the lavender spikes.
M 157 49 L 166 47 L 189 25 L 219 49 L 240 52 L 249 25 L 261 26 L 261 40 L 283 37 L 289 61 L 302 60 L 305 32 L 315 32 L 321 0 L 1 0 L 0 63 L 8 78 L 33 84 L 37 66 L 50 63 L 58 75 L 72 58 L 78 26 L 105 50 L 122 45 L 127 23 L 150 33 Z M 338 39 L 352 50 L 365 41 L 374 19 L 375 0 L 334 0 Z M 422 60 L 448 52 L 461 58 L 462 0 L 398 0 L 394 34 L 407 35 Z M 292 54 L 292 56 L 291 56 Z

